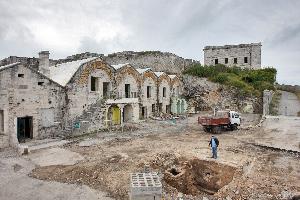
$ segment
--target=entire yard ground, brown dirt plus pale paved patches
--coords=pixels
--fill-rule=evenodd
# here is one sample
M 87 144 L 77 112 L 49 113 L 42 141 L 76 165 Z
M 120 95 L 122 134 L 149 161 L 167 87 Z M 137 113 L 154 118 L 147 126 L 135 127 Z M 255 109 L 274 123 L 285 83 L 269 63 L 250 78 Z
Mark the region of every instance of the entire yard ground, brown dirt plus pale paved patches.
M 164 199 L 290 199 L 300 192 L 300 118 L 242 115 L 236 131 L 216 135 L 184 119 L 128 124 L 32 147 L 0 152 L 0 199 L 128 199 L 129 174 L 159 172 Z M 258 126 L 256 126 L 258 124 Z M 260 126 L 261 125 L 261 126 Z

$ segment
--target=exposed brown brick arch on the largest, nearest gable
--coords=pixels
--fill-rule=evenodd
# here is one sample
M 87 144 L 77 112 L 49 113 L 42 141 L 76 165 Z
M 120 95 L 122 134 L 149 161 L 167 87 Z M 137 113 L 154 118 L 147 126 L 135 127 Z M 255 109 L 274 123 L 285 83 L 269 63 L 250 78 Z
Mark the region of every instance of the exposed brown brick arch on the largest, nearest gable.
M 96 69 L 101 69 L 105 71 L 110 79 L 113 78 L 113 69 L 107 63 L 103 61 L 94 61 L 87 64 L 87 66 L 83 69 L 78 79 L 78 83 L 87 84 L 90 74 Z

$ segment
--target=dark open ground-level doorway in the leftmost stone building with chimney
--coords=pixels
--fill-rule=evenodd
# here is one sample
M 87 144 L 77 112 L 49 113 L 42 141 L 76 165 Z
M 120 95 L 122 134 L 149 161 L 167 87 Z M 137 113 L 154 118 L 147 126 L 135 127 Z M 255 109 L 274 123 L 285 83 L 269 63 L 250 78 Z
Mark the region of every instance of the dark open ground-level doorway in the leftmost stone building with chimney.
M 26 142 L 26 139 L 32 139 L 32 117 L 17 118 L 17 137 L 18 141 Z

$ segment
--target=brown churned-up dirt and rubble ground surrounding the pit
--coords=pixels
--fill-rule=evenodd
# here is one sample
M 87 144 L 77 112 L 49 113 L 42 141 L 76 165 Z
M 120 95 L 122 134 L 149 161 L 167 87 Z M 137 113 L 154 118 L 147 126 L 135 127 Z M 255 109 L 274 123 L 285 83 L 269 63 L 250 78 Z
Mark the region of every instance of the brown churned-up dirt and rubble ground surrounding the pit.
M 299 194 L 299 153 L 249 139 L 264 133 L 263 127 L 254 126 L 257 117 L 244 116 L 240 130 L 217 135 L 217 160 L 210 158 L 211 134 L 202 131 L 196 119 L 197 115 L 176 123 L 148 121 L 123 133 L 76 138 L 63 148 L 83 159 L 72 165 L 36 165 L 29 176 L 86 185 L 113 199 L 128 199 L 129 174 L 149 165 L 162 178 L 165 199 L 289 199 Z M 30 156 L 35 155 L 38 150 Z

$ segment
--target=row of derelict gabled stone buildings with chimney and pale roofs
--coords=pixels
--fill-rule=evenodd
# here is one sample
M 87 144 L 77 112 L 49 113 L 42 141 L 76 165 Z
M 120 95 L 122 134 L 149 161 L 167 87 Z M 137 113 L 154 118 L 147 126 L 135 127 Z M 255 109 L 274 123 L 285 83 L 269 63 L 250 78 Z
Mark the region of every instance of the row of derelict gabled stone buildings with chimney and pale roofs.
M 30 138 L 83 133 L 161 113 L 181 114 L 177 75 L 109 65 L 101 57 L 0 66 L 0 148 Z

